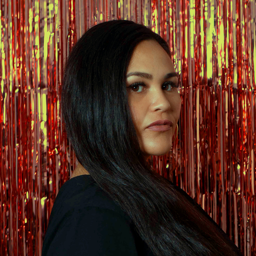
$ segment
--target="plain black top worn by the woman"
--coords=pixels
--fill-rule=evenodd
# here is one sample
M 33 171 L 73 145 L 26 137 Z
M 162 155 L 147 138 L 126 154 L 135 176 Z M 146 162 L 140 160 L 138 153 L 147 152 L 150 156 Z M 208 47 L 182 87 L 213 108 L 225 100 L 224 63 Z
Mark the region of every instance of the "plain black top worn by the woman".
M 168 180 L 169 181 L 169 180 Z M 171 181 L 169 181 L 172 185 Z M 223 234 L 217 223 L 184 190 L 174 185 Z M 131 218 L 102 190 L 91 175 L 68 179 L 59 189 L 50 213 L 41 256 L 154 256 L 134 229 Z

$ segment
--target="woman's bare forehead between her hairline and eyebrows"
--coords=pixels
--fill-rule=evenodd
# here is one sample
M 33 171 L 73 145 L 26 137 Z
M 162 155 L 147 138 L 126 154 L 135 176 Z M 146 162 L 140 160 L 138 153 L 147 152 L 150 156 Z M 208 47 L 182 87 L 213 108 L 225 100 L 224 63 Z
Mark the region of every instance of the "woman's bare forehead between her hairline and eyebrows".
M 156 40 L 143 40 L 134 48 L 128 70 L 137 71 L 138 68 L 151 71 L 164 68 L 175 71 L 169 55 Z

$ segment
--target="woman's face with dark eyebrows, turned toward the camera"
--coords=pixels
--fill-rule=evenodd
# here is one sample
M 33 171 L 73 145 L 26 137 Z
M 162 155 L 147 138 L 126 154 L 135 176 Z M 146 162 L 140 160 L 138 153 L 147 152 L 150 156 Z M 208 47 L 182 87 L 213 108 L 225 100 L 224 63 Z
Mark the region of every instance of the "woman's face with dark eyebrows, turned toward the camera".
M 151 78 L 128 75 L 131 72 L 147 73 Z M 170 83 L 177 84 L 178 77 L 164 78 L 171 72 L 175 72 L 173 63 L 157 41 L 144 40 L 136 45 L 126 73 L 126 90 L 140 148 L 146 160 L 151 155 L 166 154 L 171 148 L 181 107 L 179 88 Z M 129 87 L 135 82 L 145 86 Z M 168 119 L 173 125 L 166 131 L 147 128 L 159 119 Z

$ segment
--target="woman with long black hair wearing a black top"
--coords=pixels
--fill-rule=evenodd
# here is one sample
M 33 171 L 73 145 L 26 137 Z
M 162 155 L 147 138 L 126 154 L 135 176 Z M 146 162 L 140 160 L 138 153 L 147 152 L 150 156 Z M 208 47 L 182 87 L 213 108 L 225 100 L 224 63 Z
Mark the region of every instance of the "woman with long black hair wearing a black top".
M 151 155 L 171 148 L 180 107 L 170 50 L 151 29 L 110 20 L 80 37 L 61 91 L 79 164 L 54 201 L 42 256 L 241 255 L 190 196 L 150 168 Z

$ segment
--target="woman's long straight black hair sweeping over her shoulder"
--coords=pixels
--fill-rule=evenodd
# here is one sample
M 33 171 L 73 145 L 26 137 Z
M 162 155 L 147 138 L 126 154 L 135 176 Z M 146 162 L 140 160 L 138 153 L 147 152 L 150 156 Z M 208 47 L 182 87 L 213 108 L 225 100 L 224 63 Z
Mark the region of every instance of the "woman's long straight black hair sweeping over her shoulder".
M 132 20 L 90 27 L 65 64 L 61 113 L 77 160 L 121 209 L 154 255 L 241 255 L 182 189 L 150 168 L 128 105 L 125 74 L 134 47 L 166 41 Z

